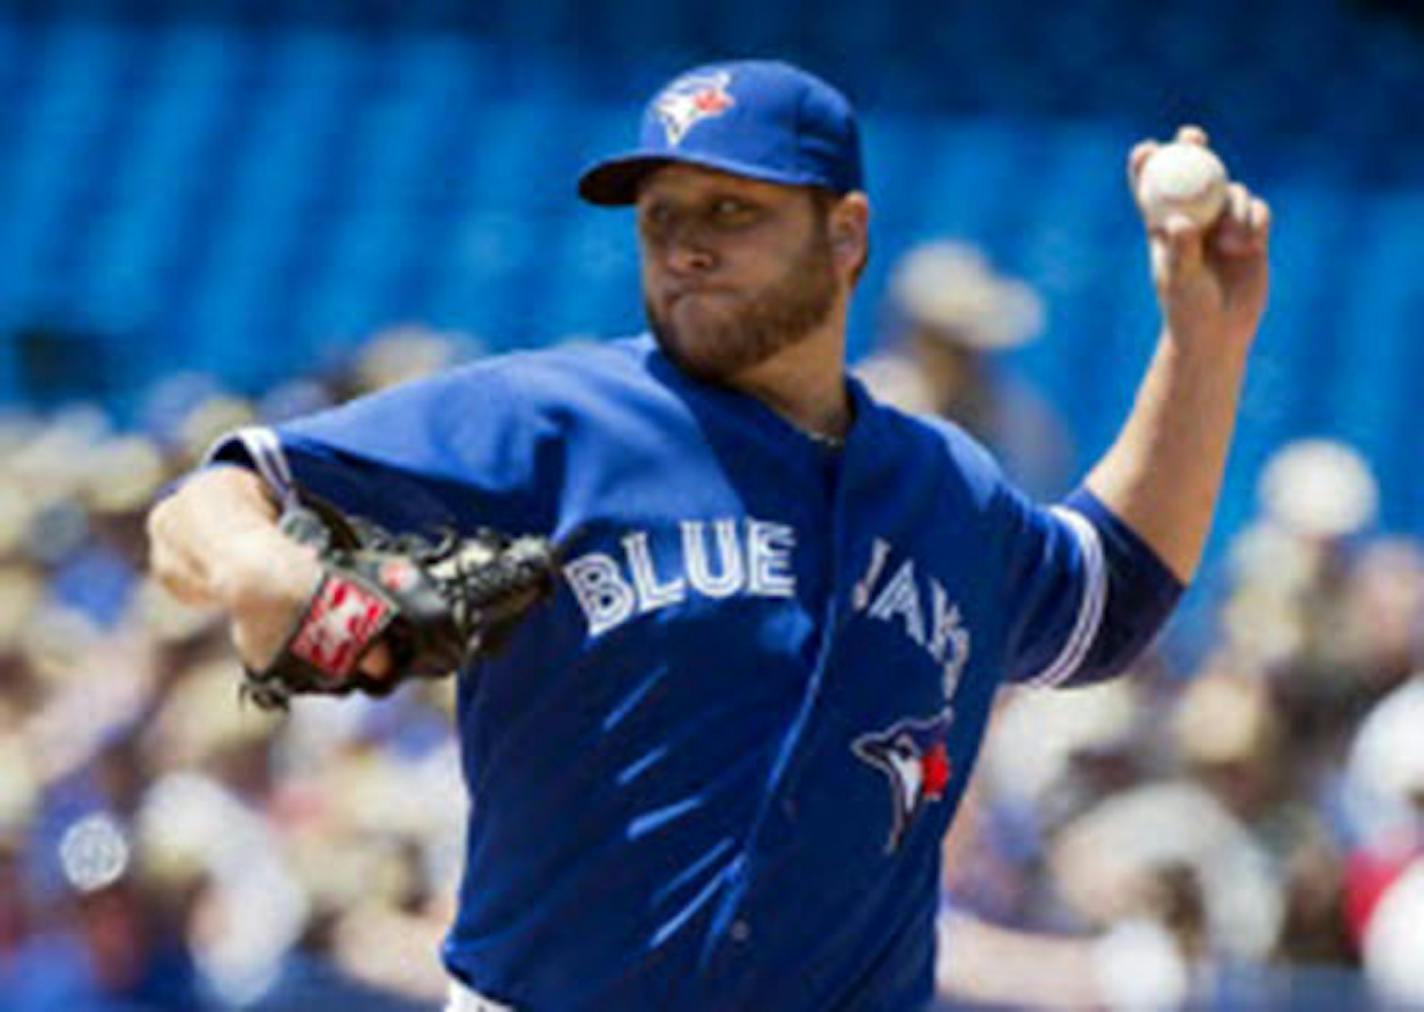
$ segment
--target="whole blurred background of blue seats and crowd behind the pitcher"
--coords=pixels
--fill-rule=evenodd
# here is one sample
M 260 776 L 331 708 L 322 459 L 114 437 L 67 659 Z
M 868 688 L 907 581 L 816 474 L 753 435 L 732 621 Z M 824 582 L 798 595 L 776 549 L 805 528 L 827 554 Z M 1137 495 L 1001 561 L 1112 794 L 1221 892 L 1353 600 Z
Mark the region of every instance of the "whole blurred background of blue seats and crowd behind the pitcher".
M 221 431 L 641 327 L 572 181 L 668 75 L 842 85 L 852 357 L 1035 492 L 1156 329 L 1124 185 L 1203 124 L 1274 208 L 1206 568 L 1138 678 L 1005 696 L 946 1006 L 1424 1006 L 1424 17 L 1408 0 L 0 3 L 0 1008 L 439 1002 L 449 686 L 275 723 L 142 575 Z

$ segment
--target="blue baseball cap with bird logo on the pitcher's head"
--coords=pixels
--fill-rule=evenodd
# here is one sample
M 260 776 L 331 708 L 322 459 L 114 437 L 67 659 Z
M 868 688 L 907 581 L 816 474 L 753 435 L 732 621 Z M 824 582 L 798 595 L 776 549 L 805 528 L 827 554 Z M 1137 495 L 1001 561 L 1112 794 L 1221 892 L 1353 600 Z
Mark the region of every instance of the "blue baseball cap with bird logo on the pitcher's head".
M 739 60 L 696 67 L 665 85 L 642 114 L 635 149 L 587 168 L 578 194 L 621 206 L 668 162 L 836 194 L 864 188 L 860 130 L 846 97 L 799 67 Z

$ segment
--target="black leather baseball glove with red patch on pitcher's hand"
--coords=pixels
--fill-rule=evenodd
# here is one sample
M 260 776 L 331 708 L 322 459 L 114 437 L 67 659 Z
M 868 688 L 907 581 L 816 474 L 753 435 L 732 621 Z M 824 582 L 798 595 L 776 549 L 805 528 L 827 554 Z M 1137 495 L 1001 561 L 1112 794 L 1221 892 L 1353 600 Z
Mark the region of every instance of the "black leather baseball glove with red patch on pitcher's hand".
M 490 656 L 558 572 L 544 538 L 393 535 L 312 497 L 282 514 L 281 529 L 316 548 L 322 579 L 272 663 L 245 669 L 241 695 L 269 710 L 300 695 L 384 696 Z M 377 642 L 392 665 L 372 678 L 359 665 Z

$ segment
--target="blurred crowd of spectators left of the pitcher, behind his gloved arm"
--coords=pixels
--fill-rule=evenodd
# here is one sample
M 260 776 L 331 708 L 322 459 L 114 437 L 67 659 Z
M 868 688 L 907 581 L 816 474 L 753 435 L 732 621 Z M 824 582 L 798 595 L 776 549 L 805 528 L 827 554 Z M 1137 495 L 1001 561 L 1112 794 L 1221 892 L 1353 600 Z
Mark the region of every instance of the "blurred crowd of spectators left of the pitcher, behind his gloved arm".
M 441 369 L 400 329 L 238 397 L 178 374 L 117 430 L 0 418 L 0 1008 L 431 1008 L 463 844 L 453 686 L 275 719 L 218 616 L 144 572 L 144 517 L 242 424 Z

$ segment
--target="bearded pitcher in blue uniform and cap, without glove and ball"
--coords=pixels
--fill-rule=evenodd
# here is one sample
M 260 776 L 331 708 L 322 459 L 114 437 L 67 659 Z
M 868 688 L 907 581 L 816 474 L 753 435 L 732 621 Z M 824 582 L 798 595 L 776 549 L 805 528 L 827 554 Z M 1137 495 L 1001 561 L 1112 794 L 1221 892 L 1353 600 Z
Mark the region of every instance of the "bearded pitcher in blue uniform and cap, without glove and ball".
M 920 1008 L 995 689 L 1118 672 L 1196 566 L 1266 206 L 1237 186 L 1213 228 L 1149 233 L 1156 356 L 1114 447 L 1040 508 L 846 374 L 869 199 L 830 85 L 692 70 L 580 192 L 635 209 L 649 333 L 239 431 L 155 508 L 154 568 L 261 666 L 318 581 L 273 527 L 293 485 L 393 529 L 567 545 L 554 598 L 459 678 L 453 1008 Z M 380 646 L 362 670 L 399 676 Z

